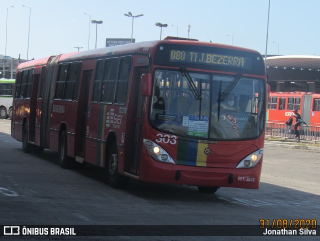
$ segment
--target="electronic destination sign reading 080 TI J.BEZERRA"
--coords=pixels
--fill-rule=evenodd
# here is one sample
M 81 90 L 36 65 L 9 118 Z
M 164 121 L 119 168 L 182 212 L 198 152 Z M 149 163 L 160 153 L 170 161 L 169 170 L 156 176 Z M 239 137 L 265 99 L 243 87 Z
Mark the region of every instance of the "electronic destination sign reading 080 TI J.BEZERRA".
M 169 61 L 178 63 L 193 63 L 215 65 L 240 69 L 251 69 L 251 59 L 241 56 L 205 53 L 188 50 L 170 50 Z

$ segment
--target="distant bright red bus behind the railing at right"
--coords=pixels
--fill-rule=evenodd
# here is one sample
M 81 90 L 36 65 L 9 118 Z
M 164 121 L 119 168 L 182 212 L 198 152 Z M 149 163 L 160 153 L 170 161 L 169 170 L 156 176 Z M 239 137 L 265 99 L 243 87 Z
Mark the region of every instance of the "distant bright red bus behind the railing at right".
M 271 92 L 267 122 L 285 123 L 298 110 L 309 126 L 320 126 L 320 94 L 309 92 Z

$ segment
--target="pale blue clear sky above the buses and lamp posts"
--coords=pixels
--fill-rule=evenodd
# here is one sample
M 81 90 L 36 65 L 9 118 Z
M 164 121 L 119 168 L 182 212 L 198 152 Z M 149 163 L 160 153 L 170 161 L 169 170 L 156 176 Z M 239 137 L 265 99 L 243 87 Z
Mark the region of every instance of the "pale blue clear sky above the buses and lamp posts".
M 131 38 L 132 18 L 124 16 L 131 12 L 143 14 L 133 19 L 135 42 L 160 39 L 155 23 L 161 23 L 167 24 L 162 39 L 211 41 L 262 55 L 267 39 L 267 55 L 320 55 L 320 1 L 270 0 L 266 38 L 268 4 L 269 0 L 1 0 L 0 54 L 38 59 L 75 52 L 74 47 L 94 49 L 95 40 L 97 48 L 103 48 L 106 38 Z

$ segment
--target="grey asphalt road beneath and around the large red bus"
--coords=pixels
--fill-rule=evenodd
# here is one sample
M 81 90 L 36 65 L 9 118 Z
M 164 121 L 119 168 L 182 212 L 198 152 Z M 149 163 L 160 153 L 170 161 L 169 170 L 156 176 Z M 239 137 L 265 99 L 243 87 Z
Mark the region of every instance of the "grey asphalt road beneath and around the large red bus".
M 320 151 L 266 144 L 260 189 L 196 187 L 131 181 L 124 190 L 102 170 L 61 169 L 57 153 L 24 154 L 0 120 L 1 225 L 255 225 L 260 219 L 320 222 Z M 164 226 L 165 227 L 165 226 Z M 145 227 L 144 227 L 145 228 Z M 151 226 L 150 226 L 151 228 Z M 184 229 L 187 230 L 187 229 Z M 320 230 L 317 229 L 317 235 Z M 152 232 L 151 232 L 152 233 Z M 0 236 L 0 240 L 319 240 L 319 236 Z

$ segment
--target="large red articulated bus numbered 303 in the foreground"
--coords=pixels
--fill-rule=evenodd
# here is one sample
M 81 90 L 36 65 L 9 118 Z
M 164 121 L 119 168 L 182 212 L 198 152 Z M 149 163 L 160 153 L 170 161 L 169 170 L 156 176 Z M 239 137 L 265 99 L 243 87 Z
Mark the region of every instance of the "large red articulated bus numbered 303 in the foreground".
M 259 187 L 267 91 L 256 51 L 167 38 L 29 61 L 16 76 L 11 136 L 26 153 L 100 166 L 115 188 Z

